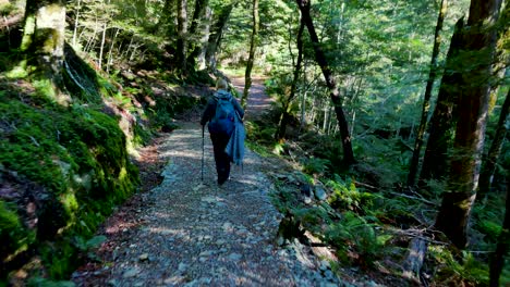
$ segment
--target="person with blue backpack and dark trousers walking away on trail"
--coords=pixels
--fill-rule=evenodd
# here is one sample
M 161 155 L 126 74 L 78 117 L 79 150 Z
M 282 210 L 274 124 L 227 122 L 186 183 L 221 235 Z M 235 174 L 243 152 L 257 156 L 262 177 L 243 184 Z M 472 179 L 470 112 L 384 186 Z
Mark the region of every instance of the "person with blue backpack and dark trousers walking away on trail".
M 230 175 L 230 157 L 224 149 L 234 129 L 235 116 L 243 118 L 244 111 L 238 100 L 228 91 L 227 80 L 219 78 L 216 83 L 217 91 L 209 99 L 202 115 L 201 125 L 204 128 L 209 122 L 208 129 L 215 151 L 218 185 L 224 184 Z

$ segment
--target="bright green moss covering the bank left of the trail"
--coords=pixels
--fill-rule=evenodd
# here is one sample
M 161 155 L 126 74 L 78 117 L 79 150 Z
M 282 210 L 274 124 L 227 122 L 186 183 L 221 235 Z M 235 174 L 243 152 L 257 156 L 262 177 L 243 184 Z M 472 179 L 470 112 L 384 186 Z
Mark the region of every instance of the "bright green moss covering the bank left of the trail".
M 2 246 L 2 259 L 23 246 L 38 246 L 49 276 L 60 279 L 77 263 L 69 238 L 93 236 L 112 208 L 134 192 L 138 175 L 118 118 L 33 99 L 28 104 L 17 97 L 0 98 L 0 165 L 47 192 L 38 227 L 52 232 L 37 229 L 37 241 L 36 233 L 0 201 L 1 241 L 10 242 Z M 41 246 L 42 239 L 49 241 Z

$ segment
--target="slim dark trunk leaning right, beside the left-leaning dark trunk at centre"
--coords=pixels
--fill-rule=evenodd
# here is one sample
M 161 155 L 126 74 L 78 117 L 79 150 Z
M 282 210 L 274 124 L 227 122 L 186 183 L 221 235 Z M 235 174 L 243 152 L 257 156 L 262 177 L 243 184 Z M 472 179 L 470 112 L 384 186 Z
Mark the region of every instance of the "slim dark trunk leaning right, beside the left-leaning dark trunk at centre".
M 303 63 L 303 32 L 304 32 L 304 22 L 303 22 L 303 18 L 301 18 L 300 29 L 298 30 L 298 40 L 296 40 L 298 60 L 296 60 L 295 67 L 294 67 L 294 74 L 292 78 L 290 95 L 289 95 L 289 98 L 287 98 L 283 102 L 283 111 L 280 115 L 280 122 L 278 123 L 278 129 L 276 133 L 277 140 L 281 140 L 286 137 L 287 124 L 289 122 L 289 116 L 290 116 L 289 109 L 290 109 L 292 100 L 295 97 L 295 89 L 298 87 L 298 80 L 301 74 L 301 65 Z

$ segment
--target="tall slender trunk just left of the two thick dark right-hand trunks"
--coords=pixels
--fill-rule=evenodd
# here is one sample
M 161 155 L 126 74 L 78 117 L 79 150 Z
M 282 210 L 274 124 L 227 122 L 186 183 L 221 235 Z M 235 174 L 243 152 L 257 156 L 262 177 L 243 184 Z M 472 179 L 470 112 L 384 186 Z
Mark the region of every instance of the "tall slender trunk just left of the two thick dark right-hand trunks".
M 422 120 L 420 122 L 418 132 L 416 135 L 416 141 L 414 144 L 413 158 L 409 166 L 408 186 L 414 186 L 416 182 L 416 172 L 418 169 L 420 153 L 423 146 L 423 136 L 425 134 L 425 127 L 427 126 L 428 111 L 430 109 L 430 96 L 434 87 L 434 80 L 436 79 L 437 70 L 437 58 L 439 55 L 439 46 L 441 45 L 440 32 L 442 29 L 442 22 L 448 9 L 448 0 L 441 0 L 439 8 L 439 16 L 437 17 L 436 32 L 434 33 L 434 48 L 430 60 L 430 71 L 428 72 L 427 86 L 425 88 L 425 95 L 423 97 L 422 108 Z

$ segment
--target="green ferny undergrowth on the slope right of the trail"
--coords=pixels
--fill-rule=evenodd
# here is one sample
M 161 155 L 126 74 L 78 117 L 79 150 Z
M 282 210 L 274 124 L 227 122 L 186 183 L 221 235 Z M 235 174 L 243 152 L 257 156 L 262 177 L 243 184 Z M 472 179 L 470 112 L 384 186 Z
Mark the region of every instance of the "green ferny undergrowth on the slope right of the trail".
M 276 142 L 277 114 L 278 105 L 265 117 L 272 122 L 256 121 L 246 126 L 252 148 L 294 166 L 294 172 L 272 174 L 278 191 L 275 202 L 294 224 L 294 234 L 289 237 L 307 241 L 302 237 L 306 230 L 332 247 L 339 259 L 332 263 L 339 276 L 368 274 L 388 286 L 488 285 L 488 262 L 505 215 L 505 210 L 497 208 L 505 198 L 501 191 L 474 207 L 470 247 L 457 250 L 433 228 L 442 183 L 429 183 L 426 191 L 403 187 L 410 157 L 404 139 L 366 134 L 353 147 L 360 154 L 359 163 L 344 169 L 340 139 L 300 128 L 295 118 L 288 140 Z M 318 199 L 321 194 L 327 196 Z M 312 201 L 306 200 L 308 196 Z M 403 265 L 414 238 L 427 244 L 427 252 L 422 273 L 410 278 L 404 276 Z M 501 284 L 509 283 L 507 265 Z

